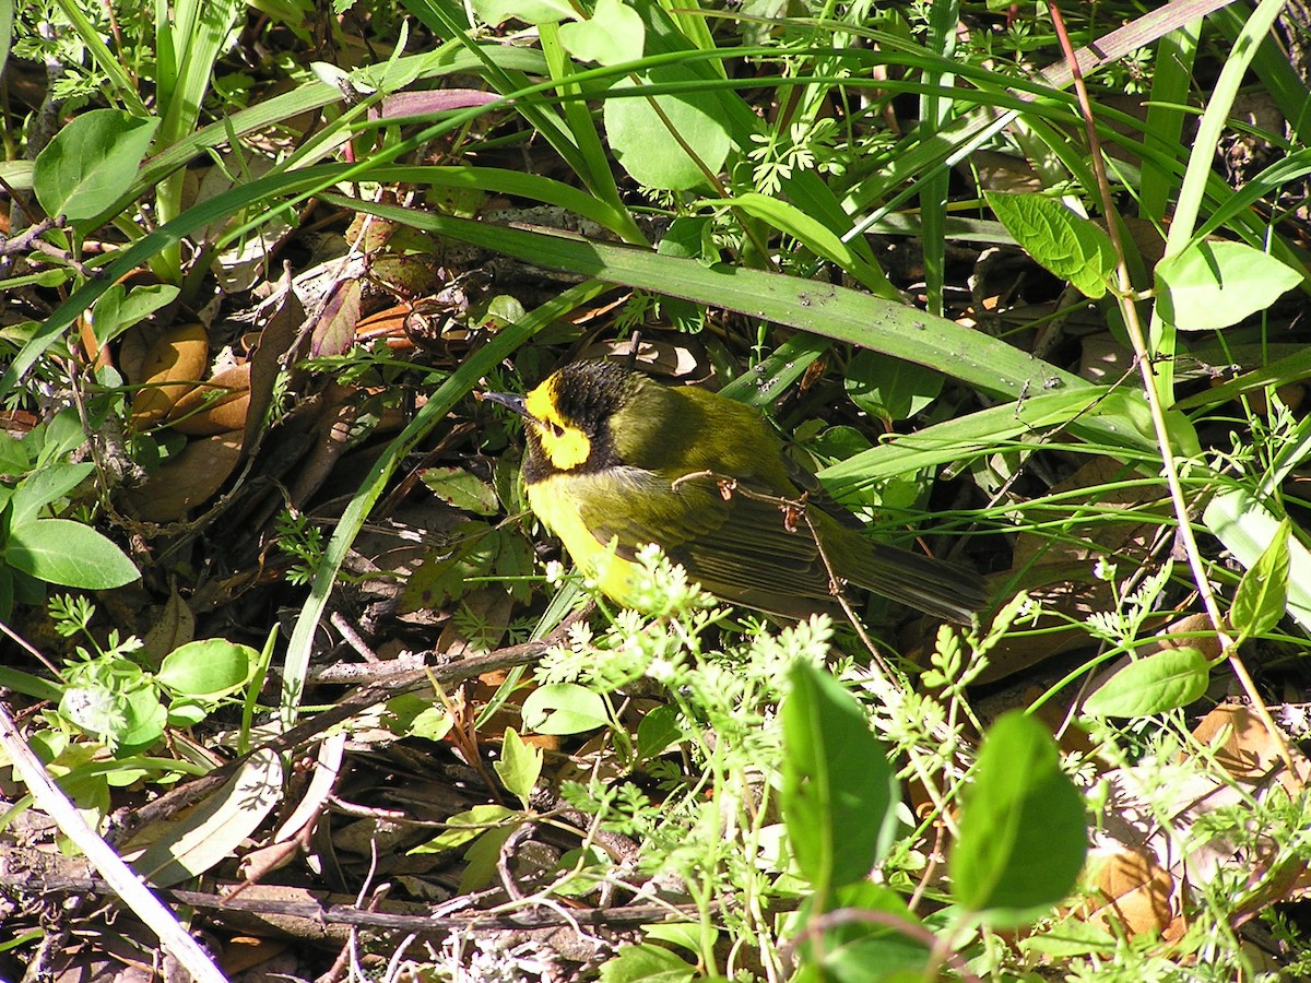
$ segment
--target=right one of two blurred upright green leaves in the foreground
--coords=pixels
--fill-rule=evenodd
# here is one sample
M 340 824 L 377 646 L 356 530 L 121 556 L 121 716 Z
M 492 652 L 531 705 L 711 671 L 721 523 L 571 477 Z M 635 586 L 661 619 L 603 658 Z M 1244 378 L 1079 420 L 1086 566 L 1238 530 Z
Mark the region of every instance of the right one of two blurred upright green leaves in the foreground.
M 948 869 L 957 900 L 992 925 L 1023 924 L 1065 898 L 1088 851 L 1083 798 L 1055 743 L 1020 712 L 983 738 Z

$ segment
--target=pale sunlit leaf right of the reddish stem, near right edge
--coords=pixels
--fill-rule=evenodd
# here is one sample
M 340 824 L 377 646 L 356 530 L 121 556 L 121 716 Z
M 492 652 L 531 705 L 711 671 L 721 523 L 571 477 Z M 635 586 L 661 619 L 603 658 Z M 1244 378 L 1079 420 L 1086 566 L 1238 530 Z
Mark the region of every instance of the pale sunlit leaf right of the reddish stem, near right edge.
M 1297 270 L 1260 249 L 1203 241 L 1156 263 L 1156 308 L 1180 330 L 1217 330 L 1264 311 L 1301 282 Z

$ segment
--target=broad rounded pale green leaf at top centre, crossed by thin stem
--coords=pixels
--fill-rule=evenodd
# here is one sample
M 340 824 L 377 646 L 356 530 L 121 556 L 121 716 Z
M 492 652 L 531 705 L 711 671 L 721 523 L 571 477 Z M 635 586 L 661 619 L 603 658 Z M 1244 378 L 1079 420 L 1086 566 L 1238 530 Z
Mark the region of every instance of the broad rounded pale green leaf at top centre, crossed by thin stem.
M 635 77 L 640 87 L 696 79 L 678 66 L 652 68 Z M 707 183 L 705 170 L 711 174 L 720 172 L 728 159 L 730 140 L 718 101 L 686 93 L 617 98 L 615 93 L 620 90 L 632 92 L 632 83 L 624 80 L 610 90 L 603 118 L 610 147 L 635 181 L 646 187 L 686 191 Z M 671 127 L 679 139 L 674 139 Z M 700 166 L 683 144 L 696 155 Z

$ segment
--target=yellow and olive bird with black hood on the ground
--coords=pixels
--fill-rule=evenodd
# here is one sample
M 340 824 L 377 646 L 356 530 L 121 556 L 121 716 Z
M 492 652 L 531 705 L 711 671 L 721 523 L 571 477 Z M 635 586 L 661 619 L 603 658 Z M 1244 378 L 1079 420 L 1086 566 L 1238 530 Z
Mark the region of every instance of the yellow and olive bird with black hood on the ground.
M 648 543 L 711 594 L 784 617 L 836 607 L 830 569 L 950 621 L 987 600 L 977 574 L 872 543 L 822 493 L 808 503 L 818 481 L 745 404 L 600 360 L 566 364 L 527 396 L 482 398 L 524 418 L 528 505 L 574 562 L 595 575 L 614 548 L 599 586 L 620 604 L 641 607 L 632 561 Z

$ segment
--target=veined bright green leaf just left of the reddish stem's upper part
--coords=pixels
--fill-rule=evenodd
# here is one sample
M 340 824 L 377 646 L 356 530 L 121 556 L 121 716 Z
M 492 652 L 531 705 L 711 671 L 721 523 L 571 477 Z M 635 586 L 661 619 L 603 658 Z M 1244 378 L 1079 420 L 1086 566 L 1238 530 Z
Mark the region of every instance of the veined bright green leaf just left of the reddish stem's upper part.
M 1096 300 L 1106 292 L 1116 250 L 1095 223 L 1042 194 L 987 191 L 983 197 L 1034 262 L 1087 298 Z

